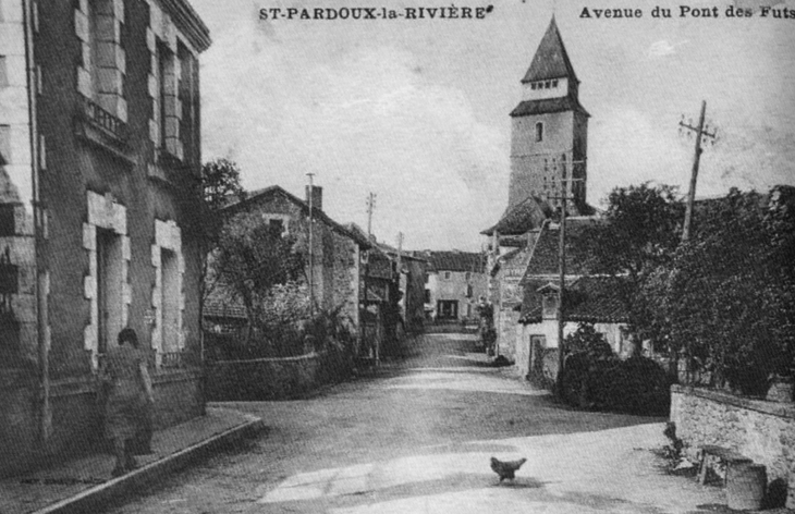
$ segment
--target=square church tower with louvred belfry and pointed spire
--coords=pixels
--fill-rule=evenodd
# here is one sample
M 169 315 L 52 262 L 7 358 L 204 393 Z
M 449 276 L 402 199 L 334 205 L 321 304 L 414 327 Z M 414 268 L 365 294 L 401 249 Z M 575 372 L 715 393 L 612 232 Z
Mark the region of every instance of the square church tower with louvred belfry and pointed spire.
M 554 17 L 522 78 L 523 97 L 511 112 L 507 211 L 528 197 L 579 213 L 586 207 L 588 112 L 579 81 Z

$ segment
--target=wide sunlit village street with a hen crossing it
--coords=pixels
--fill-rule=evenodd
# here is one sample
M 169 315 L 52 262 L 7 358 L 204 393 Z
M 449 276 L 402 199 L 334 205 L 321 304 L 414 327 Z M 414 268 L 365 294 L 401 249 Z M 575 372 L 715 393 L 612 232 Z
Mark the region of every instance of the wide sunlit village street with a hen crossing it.
M 659 468 L 662 419 L 559 406 L 473 346 L 473 335 L 427 334 L 407 359 L 310 399 L 224 404 L 267 431 L 110 512 L 657 514 L 724 503 L 719 489 Z M 528 461 L 498 485 L 491 455 Z

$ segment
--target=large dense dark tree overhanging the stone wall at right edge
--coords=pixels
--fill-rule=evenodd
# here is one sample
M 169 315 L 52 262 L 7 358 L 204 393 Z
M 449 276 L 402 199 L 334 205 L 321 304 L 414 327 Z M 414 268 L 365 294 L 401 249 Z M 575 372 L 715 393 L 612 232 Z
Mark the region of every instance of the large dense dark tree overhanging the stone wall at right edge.
M 692 236 L 646 293 L 659 339 L 689 370 L 755 395 L 795 372 L 795 195 L 775 193 L 698 205 Z

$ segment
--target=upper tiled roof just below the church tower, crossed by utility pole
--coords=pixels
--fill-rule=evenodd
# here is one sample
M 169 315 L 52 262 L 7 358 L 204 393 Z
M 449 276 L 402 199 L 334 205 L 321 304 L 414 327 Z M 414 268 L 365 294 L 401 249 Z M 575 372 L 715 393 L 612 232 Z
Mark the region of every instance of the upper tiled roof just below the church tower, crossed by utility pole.
M 586 264 L 576 255 L 583 255 L 582 237 L 585 230 L 596 223 L 594 218 L 566 219 L 566 274 L 588 274 Z M 541 230 L 527 266 L 526 282 L 537 276 L 554 276 L 559 272 L 560 225 L 548 223 Z

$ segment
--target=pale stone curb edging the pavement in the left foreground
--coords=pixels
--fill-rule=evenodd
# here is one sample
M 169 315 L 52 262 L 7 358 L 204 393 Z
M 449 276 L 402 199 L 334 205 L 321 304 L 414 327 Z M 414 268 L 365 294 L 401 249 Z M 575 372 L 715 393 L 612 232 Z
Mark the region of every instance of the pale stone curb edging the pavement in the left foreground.
M 126 475 L 113 478 L 105 484 L 100 484 L 99 486 L 82 491 L 74 497 L 66 498 L 65 500 L 61 500 L 35 511 L 32 514 L 73 514 L 97 512 L 112 499 L 132 492 L 146 484 L 154 482 L 156 479 L 181 469 L 192 462 L 206 456 L 208 453 L 217 450 L 221 445 L 255 435 L 265 427 L 260 418 L 243 413 L 238 414 L 246 418 L 246 421 L 242 425 L 230 428 L 221 433 L 210 437 L 209 439 L 205 439 L 204 441 L 197 442 L 196 444 L 147 464 L 146 466 L 135 469 Z

